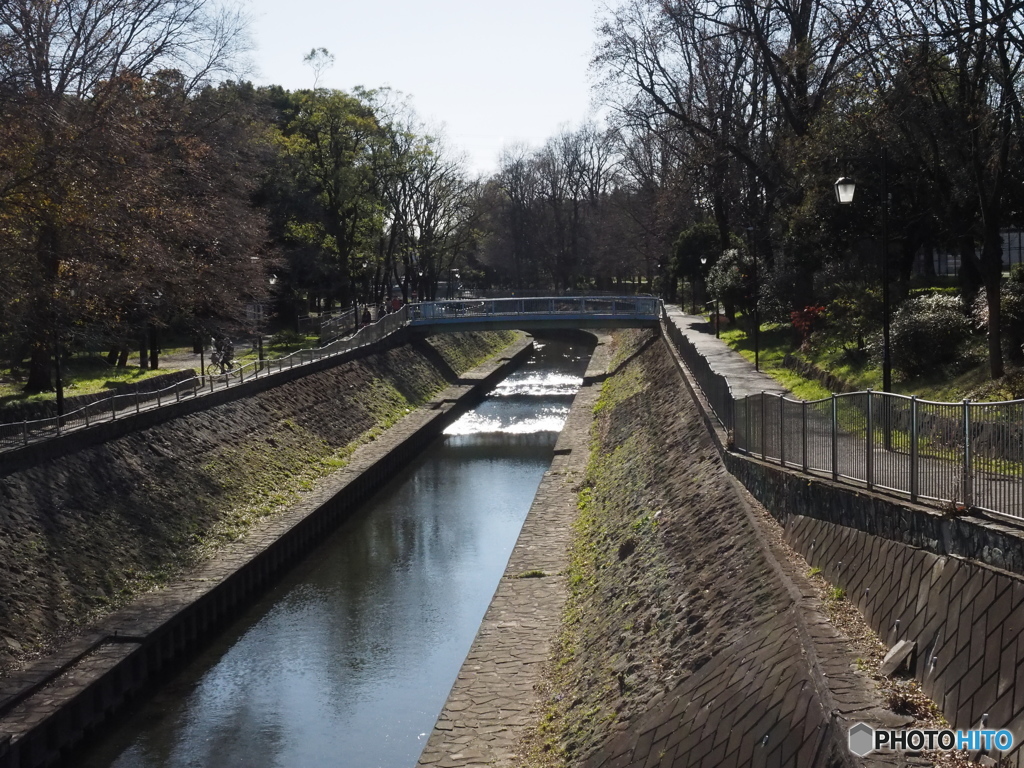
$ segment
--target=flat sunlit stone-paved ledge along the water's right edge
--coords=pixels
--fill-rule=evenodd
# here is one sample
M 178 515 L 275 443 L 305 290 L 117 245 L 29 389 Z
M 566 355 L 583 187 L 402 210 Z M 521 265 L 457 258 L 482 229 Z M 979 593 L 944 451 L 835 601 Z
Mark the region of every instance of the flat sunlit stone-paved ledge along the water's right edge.
M 607 369 L 607 341 L 603 337 L 594 350 L 588 381 Z M 535 686 L 565 602 L 575 485 L 587 468 L 599 393 L 599 384 L 585 385 L 572 401 L 551 469 L 541 481 L 505 574 L 420 757 L 421 766 L 513 765 L 526 728 L 537 722 L 541 698 Z

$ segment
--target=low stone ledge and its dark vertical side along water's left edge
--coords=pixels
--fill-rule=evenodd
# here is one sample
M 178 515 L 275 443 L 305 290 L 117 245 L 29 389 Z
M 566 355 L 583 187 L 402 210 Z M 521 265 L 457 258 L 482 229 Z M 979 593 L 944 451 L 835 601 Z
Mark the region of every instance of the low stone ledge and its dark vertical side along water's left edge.
M 0 768 L 57 761 L 91 731 L 223 629 L 316 547 L 359 504 L 415 458 L 531 352 L 504 356 L 460 377 L 374 442 L 292 510 L 225 548 L 198 572 L 142 596 L 91 634 L 0 683 Z

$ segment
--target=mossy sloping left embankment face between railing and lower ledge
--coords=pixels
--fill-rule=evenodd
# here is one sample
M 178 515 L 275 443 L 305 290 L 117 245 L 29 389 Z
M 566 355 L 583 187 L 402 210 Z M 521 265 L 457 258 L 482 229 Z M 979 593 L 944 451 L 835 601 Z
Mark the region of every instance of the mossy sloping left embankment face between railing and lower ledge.
M 0 474 L 0 670 L 244 536 L 514 338 L 416 342 Z

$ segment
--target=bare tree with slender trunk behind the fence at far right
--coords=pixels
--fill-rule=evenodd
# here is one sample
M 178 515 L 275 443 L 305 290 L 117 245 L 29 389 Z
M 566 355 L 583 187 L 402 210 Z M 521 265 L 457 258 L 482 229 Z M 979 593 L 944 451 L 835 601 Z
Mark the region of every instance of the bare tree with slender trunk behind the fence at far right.
M 869 70 L 872 85 L 885 94 L 887 124 L 930 181 L 936 220 L 957 241 L 965 267 L 981 276 L 989 371 L 998 378 L 999 231 L 1021 180 L 1024 2 L 893 0 L 888 11 L 876 27 L 884 55 Z M 899 66 L 879 66 L 882 60 Z

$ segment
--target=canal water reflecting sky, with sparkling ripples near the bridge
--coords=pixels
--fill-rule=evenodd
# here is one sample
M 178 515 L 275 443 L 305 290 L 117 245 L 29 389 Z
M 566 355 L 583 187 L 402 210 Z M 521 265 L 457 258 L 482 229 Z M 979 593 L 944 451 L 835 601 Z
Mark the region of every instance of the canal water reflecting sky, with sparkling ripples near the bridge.
M 586 347 L 537 346 L 74 765 L 414 766 L 587 368 Z

